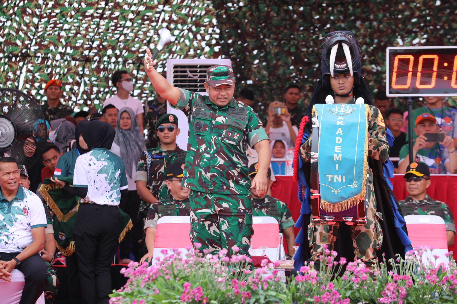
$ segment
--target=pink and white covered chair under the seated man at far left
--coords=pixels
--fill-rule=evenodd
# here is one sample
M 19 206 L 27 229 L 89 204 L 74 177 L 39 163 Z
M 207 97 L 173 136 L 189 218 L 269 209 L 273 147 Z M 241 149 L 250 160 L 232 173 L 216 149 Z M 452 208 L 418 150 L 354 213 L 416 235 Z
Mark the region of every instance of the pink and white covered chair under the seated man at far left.
M 21 300 L 22 289 L 24 288 L 24 274 L 17 269 L 11 271 L 11 282 L 0 279 L 0 303 L 18 304 Z M 44 292 L 38 298 L 36 304 L 44 304 Z

